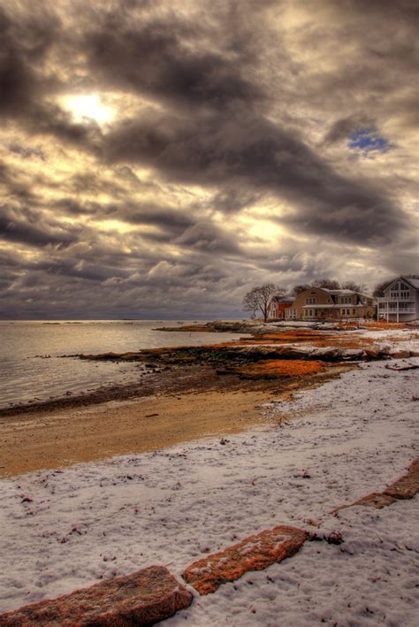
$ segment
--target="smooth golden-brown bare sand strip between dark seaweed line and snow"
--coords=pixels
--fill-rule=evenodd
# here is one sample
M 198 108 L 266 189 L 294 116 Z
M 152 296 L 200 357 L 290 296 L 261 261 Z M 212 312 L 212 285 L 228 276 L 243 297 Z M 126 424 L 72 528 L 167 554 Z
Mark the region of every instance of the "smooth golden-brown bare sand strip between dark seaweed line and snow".
M 141 453 L 261 423 L 261 391 L 110 401 L 0 418 L 0 477 Z

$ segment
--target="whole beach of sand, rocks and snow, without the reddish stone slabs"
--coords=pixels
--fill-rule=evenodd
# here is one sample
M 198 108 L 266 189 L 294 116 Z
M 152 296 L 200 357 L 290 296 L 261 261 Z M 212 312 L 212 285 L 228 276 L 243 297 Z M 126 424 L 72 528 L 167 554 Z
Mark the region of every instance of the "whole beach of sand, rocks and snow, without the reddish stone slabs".
M 1 610 L 153 564 L 183 581 L 195 560 L 288 524 L 318 541 L 217 593 L 188 585 L 191 608 L 164 624 L 414 627 L 417 498 L 332 511 L 418 456 L 417 332 L 278 336 L 154 349 L 136 398 L 4 415 Z

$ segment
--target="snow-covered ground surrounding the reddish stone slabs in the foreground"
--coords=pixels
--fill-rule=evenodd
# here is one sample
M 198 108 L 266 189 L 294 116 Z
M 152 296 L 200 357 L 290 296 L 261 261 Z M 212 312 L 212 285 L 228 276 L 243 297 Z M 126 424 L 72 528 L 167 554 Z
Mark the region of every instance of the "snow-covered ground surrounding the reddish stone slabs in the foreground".
M 419 499 L 328 514 L 383 490 L 418 455 L 417 371 L 385 364 L 362 363 L 267 406 L 266 425 L 225 444 L 198 440 L 3 480 L 0 609 L 154 563 L 180 578 L 205 554 L 292 524 L 345 541 L 306 542 L 286 562 L 194 593 L 191 608 L 164 624 L 417 625 Z M 290 421 L 273 425 L 276 416 Z

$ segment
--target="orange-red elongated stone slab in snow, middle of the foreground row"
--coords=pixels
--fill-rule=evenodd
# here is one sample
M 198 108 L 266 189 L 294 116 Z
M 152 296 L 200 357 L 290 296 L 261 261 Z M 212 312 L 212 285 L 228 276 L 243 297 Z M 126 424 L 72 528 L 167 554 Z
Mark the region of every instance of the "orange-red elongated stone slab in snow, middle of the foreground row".
M 280 524 L 194 562 L 183 577 L 198 593 L 215 593 L 220 585 L 239 579 L 249 570 L 263 570 L 291 557 L 308 538 L 307 531 Z

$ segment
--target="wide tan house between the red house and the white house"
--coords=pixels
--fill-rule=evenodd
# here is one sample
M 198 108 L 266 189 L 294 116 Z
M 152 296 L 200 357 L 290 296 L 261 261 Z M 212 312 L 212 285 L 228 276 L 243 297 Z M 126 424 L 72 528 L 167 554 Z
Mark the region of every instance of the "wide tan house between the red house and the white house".
M 351 289 L 310 287 L 295 297 L 286 309 L 287 320 L 345 320 L 354 317 L 373 317 L 375 299 Z

